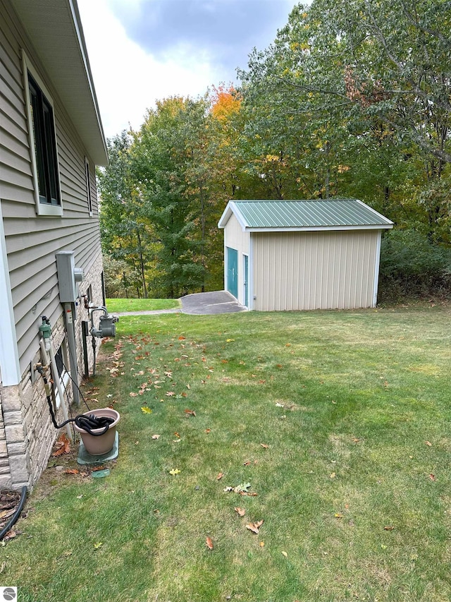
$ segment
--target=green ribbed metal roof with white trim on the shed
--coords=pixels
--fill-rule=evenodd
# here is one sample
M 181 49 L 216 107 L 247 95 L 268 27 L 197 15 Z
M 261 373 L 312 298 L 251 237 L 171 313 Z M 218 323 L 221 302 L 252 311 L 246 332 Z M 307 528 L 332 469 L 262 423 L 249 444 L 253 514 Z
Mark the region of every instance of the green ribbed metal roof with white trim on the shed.
M 232 212 L 243 230 L 384 229 L 393 222 L 361 200 L 233 200 L 219 221 L 224 227 Z

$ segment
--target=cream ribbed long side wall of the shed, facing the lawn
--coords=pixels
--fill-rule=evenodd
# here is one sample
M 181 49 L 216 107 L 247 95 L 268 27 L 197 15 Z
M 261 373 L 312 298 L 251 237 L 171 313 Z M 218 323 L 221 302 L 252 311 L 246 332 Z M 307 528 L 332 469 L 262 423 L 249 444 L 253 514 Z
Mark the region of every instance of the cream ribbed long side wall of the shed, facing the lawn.
M 377 231 L 252 236 L 255 309 L 371 307 Z

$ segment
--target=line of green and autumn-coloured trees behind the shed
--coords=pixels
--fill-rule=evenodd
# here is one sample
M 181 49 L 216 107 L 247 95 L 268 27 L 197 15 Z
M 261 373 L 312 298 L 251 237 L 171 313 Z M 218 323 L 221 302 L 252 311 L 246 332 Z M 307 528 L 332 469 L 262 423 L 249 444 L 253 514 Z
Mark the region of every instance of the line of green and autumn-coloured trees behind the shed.
M 98 172 L 110 294 L 221 289 L 233 198 L 360 198 L 395 222 L 383 286 L 447 289 L 450 25 L 448 0 L 313 0 L 235 88 L 157 102 Z

